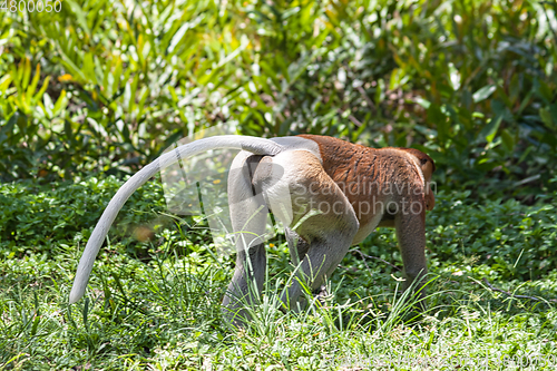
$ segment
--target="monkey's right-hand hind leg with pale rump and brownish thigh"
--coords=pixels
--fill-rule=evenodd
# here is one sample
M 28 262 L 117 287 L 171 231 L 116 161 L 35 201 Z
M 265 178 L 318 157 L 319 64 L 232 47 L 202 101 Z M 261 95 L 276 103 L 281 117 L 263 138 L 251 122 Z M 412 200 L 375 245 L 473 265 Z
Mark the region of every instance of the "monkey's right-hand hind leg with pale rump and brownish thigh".
M 314 292 L 331 276 L 352 244 L 359 222 L 346 196 L 317 157 L 305 150 L 293 150 L 281 153 L 272 162 L 281 166 L 284 174 L 278 180 L 273 179 L 273 187 L 266 189 L 267 204 L 275 215 L 284 218 L 285 214 L 275 212 L 280 208 L 276 201 L 282 198 L 273 199 L 273 194 L 285 187 L 292 197 L 292 218 L 284 218 L 283 224 L 289 225 L 286 237 L 292 261 L 301 262 L 282 302 L 287 309 L 296 309 L 304 306 L 303 301 L 297 303 L 304 286 Z M 268 184 L 272 179 L 263 172 L 260 174 L 260 182 Z

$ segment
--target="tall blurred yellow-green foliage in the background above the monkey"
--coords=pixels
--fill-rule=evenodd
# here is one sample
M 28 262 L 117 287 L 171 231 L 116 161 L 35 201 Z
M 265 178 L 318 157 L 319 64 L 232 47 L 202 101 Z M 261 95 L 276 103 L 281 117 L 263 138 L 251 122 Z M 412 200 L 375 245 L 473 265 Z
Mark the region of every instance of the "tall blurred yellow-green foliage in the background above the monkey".
M 535 1 L 65 1 L 0 20 L 3 179 L 136 168 L 195 129 L 434 157 L 441 186 L 555 188 L 555 10 Z

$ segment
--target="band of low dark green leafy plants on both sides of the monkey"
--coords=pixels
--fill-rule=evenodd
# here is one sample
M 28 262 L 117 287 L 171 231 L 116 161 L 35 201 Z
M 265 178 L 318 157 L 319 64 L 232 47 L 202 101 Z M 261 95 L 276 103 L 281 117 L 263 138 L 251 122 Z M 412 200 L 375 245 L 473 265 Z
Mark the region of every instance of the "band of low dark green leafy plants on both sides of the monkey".
M 36 253 L 50 256 L 56 254 L 60 245 L 84 244 L 120 185 L 121 182 L 113 176 L 48 186 L 32 182 L 2 184 L 0 251 L 4 256 Z M 460 265 L 462 257 L 468 257 L 475 264 L 490 266 L 487 274 L 504 279 L 531 280 L 548 274 L 557 265 L 554 248 L 557 238 L 557 198 L 547 198 L 545 203 L 532 206 L 525 206 L 515 199 L 477 204 L 468 191 L 451 194 L 441 192 L 437 196 L 434 209 L 427 217 L 428 251 L 432 266 Z M 158 182 L 149 182 L 125 204 L 109 238 L 113 242 L 124 238 L 121 243 L 133 256 L 138 253 L 135 247 L 137 241 L 144 240 L 134 235 L 138 226 L 154 228 L 152 233 L 167 240 L 180 253 L 183 240 L 195 244 L 202 242 L 204 245 L 211 242 L 211 234 L 206 230 L 190 228 L 194 224 L 190 217 L 186 217 L 187 223 L 180 223 L 176 228 L 172 227 L 172 223 L 162 221 L 160 213 L 166 214 L 162 187 Z M 278 241 L 283 238 L 278 237 Z M 276 246 L 278 244 L 275 242 Z M 203 254 L 207 254 L 207 248 L 211 247 L 204 247 Z M 398 262 L 401 266 L 394 230 L 378 230 L 360 250 L 387 262 Z M 352 261 L 350 266 L 363 264 L 358 254 L 349 258 L 359 260 Z M 280 266 L 284 269 L 287 264 L 287 256 L 284 255 Z

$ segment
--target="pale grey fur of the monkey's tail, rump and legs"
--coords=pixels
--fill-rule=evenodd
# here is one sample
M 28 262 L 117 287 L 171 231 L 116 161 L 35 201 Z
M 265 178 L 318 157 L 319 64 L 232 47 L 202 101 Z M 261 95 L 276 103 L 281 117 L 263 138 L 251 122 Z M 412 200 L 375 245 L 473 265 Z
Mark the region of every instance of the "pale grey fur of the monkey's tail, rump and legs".
M 360 225 L 349 198 L 323 168 L 320 148 L 314 140 L 245 136 L 199 139 L 160 156 L 117 192 L 87 243 L 70 303 L 84 295 L 95 257 L 126 199 L 166 166 L 216 148 L 244 149 L 235 157 L 232 164 L 234 170 L 228 175 L 228 205 L 237 255 L 223 306 L 225 316 L 232 323 L 241 325 L 250 320 L 246 304 L 255 304 L 263 287 L 266 269 L 264 233 L 268 209 L 284 225 L 292 261 L 296 265 L 295 280 L 281 297 L 285 309 L 295 309 L 296 304 L 303 303 L 304 285 L 311 290 L 320 289 L 349 247 L 371 233 L 383 217 L 384 209 L 381 209 L 368 225 Z M 400 155 L 400 152 L 397 154 Z M 416 158 L 413 164 L 419 168 Z M 421 169 L 419 174 L 423 178 Z M 329 192 L 312 192 L 311 185 L 317 185 L 317 188 L 326 185 Z M 299 192 L 301 188 L 305 191 Z M 307 207 L 321 202 L 339 204 L 341 213 L 319 209 L 314 213 L 315 209 L 310 209 L 313 206 Z M 412 282 L 427 272 L 424 223 L 420 217 L 407 214 L 397 214 L 394 223 L 408 282 Z

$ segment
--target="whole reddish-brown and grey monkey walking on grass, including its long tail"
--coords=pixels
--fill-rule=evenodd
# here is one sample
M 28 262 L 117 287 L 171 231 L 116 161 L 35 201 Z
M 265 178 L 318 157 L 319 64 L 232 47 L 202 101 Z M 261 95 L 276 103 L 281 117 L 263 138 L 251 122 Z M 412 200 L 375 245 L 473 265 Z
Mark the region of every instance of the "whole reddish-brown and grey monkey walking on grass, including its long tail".
M 160 156 L 129 178 L 97 223 L 69 296 L 84 294 L 94 261 L 127 198 L 163 168 L 196 154 L 242 149 L 228 175 L 228 205 L 236 236 L 236 265 L 223 299 L 227 321 L 250 320 L 246 304 L 257 302 L 266 269 L 264 232 L 268 211 L 284 225 L 295 269 L 281 296 L 283 310 L 304 305 L 304 286 L 319 290 L 349 247 L 378 226 L 394 227 L 404 266 L 404 287 L 417 282 L 421 297 L 426 262 L 426 211 L 434 206 L 431 157 L 413 148 L 370 148 L 338 138 L 300 135 L 271 139 L 216 136 Z

